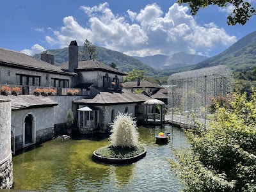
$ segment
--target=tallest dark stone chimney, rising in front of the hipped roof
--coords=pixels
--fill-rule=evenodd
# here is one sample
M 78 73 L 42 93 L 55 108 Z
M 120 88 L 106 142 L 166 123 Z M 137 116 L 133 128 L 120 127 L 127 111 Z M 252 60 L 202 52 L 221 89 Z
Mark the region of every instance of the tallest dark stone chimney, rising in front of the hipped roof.
M 78 46 L 77 42 L 72 41 L 68 47 L 68 70 L 74 72 L 78 67 Z

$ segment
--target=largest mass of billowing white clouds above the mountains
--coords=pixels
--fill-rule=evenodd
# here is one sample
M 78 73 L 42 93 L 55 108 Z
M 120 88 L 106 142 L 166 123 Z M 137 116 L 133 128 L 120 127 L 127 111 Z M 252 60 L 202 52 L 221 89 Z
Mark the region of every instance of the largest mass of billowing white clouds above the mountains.
M 59 30 L 49 28 L 52 35 L 45 36 L 45 40 L 67 47 L 71 40 L 83 45 L 87 38 L 93 44 L 134 56 L 170 55 L 180 51 L 209 55 L 236 42 L 236 36 L 228 35 L 214 22 L 199 25 L 188 15 L 189 8 L 177 3 L 166 13 L 154 3 L 140 12 L 127 10 L 124 17 L 115 15 L 108 3 L 80 9 L 89 17 L 84 21 L 86 26 L 72 16 L 65 17 Z

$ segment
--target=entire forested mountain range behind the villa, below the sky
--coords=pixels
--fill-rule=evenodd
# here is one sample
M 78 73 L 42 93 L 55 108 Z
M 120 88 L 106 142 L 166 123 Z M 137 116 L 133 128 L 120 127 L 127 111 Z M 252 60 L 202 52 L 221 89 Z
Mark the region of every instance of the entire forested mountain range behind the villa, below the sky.
M 79 47 L 79 58 L 81 58 L 82 49 L 83 47 Z M 215 65 L 227 65 L 234 71 L 245 72 L 256 66 L 256 31 L 244 36 L 225 51 L 211 58 L 185 52 L 179 52 L 172 56 L 157 54 L 147 57 L 131 57 L 103 47 L 97 47 L 97 50 L 99 51 L 97 60 L 105 65 L 115 63 L 122 72 L 129 72 L 132 69 L 145 70 L 147 76 L 170 76 L 175 72 Z M 54 54 L 55 65 L 68 61 L 68 47 L 50 49 L 49 51 Z M 36 54 L 34 57 L 40 59 L 40 54 Z

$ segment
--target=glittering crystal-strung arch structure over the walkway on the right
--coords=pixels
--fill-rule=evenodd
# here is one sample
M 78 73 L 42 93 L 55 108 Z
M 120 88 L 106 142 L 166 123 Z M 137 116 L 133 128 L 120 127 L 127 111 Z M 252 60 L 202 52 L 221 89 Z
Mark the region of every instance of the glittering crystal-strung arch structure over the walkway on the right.
M 191 124 L 193 113 L 206 127 L 211 97 L 227 97 L 233 90 L 232 70 L 224 65 L 172 74 L 168 78 L 170 120 Z

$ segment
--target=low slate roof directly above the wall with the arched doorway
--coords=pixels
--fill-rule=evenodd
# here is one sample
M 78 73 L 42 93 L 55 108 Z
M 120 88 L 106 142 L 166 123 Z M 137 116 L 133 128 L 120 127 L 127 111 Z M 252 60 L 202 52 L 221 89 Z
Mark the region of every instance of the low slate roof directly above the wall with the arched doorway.
M 12 100 L 12 110 L 26 108 L 46 108 L 58 105 L 58 102 L 51 100 L 49 97 L 38 97 L 35 95 L 19 96 L 0 96 L 1 100 Z

